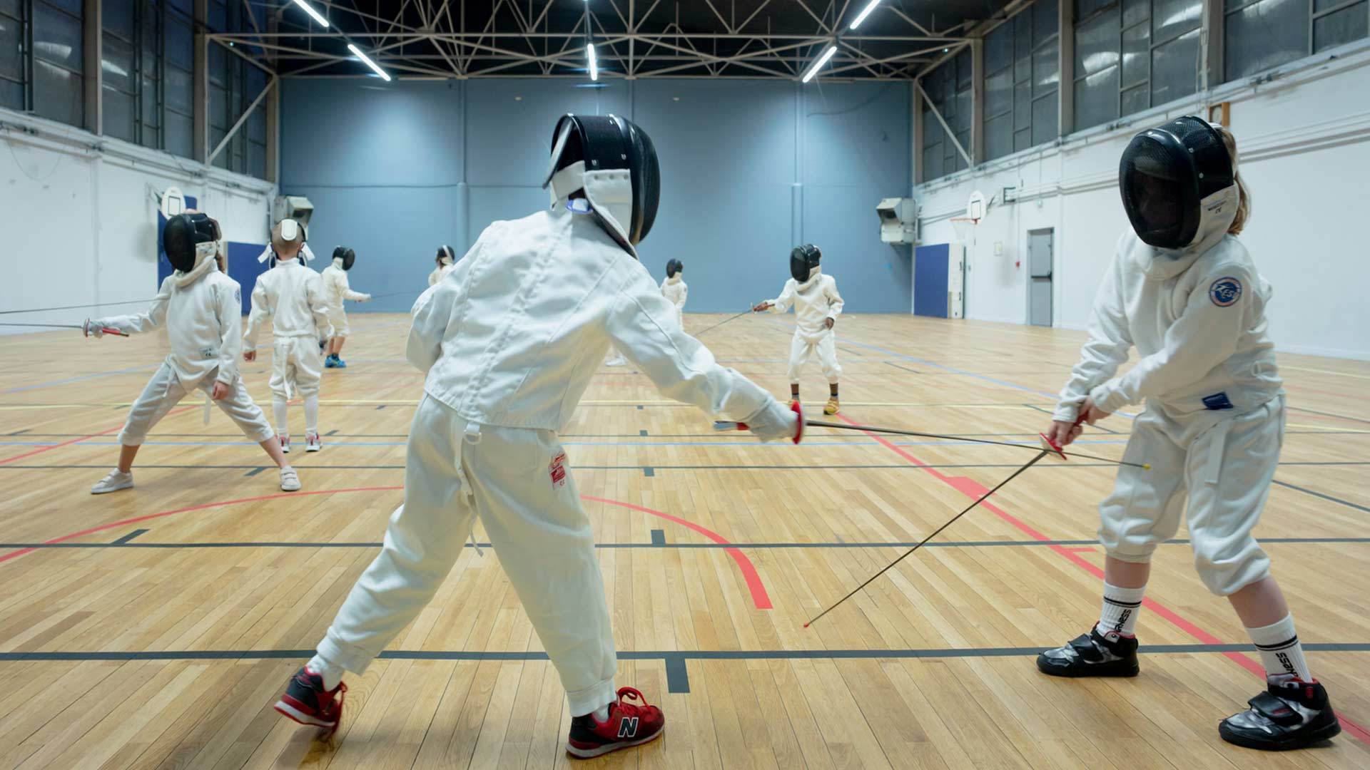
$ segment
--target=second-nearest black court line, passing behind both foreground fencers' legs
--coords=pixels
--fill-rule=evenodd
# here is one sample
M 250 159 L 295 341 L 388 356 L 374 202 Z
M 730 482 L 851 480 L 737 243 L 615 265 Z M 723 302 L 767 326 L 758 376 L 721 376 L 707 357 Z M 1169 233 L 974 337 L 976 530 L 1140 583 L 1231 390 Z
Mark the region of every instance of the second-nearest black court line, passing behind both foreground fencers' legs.
M 148 532 L 140 529 L 134 536 Z M 129 536 L 132 537 L 132 536 Z M 1286 545 L 1318 545 L 1318 544 L 1359 544 L 1370 543 L 1370 537 L 1262 537 L 1260 543 L 1280 543 Z M 1160 545 L 1188 545 L 1188 538 L 1166 540 Z M 489 543 L 478 543 L 481 548 L 493 548 Z M 690 549 L 806 549 L 806 548 L 911 548 L 918 541 L 814 541 L 814 543 L 667 543 L 666 532 L 652 530 L 651 543 L 596 543 L 596 548 L 678 548 Z M 1040 548 L 1051 545 L 1099 545 L 1097 540 L 934 540 L 923 548 Z M 296 541 L 296 540 L 242 540 L 242 541 L 195 541 L 195 543 L 129 543 L 123 538 L 114 543 L 0 543 L 0 549 L 7 548 L 379 548 L 381 541 L 367 540 L 334 540 L 334 541 Z M 470 543 L 466 548 L 474 548 Z

